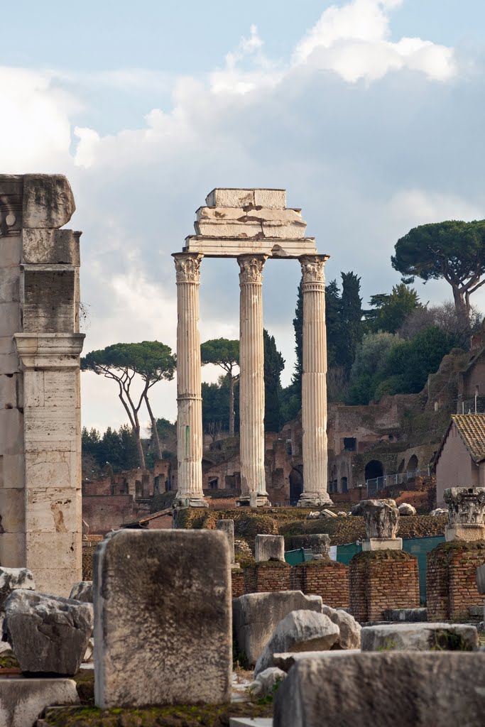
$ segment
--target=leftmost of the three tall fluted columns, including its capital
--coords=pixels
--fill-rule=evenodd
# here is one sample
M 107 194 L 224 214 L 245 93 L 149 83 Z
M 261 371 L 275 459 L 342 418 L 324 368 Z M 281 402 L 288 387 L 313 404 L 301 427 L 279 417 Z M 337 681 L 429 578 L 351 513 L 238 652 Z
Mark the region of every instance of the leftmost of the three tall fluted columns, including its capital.
M 199 283 L 202 255 L 174 254 L 177 274 L 178 507 L 207 507 L 202 491 L 201 340 Z

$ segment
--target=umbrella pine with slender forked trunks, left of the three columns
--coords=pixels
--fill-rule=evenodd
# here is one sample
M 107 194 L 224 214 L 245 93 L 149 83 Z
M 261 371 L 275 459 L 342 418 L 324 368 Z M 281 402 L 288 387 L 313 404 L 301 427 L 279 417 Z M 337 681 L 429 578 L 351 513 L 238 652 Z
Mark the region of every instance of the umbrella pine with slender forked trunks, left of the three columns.
M 118 395 L 137 441 L 140 467 L 145 467 L 145 454 L 140 436 L 140 407 L 148 409 L 152 433 L 155 438 L 157 454 L 161 457 L 161 447 L 156 419 L 148 400 L 148 391 L 162 379 L 172 379 L 175 373 L 175 356 L 169 346 L 159 341 L 141 343 L 115 343 L 101 350 L 91 351 L 81 358 L 81 371 L 94 371 L 116 381 Z M 138 375 L 142 379 L 142 391 L 135 395 L 132 382 Z

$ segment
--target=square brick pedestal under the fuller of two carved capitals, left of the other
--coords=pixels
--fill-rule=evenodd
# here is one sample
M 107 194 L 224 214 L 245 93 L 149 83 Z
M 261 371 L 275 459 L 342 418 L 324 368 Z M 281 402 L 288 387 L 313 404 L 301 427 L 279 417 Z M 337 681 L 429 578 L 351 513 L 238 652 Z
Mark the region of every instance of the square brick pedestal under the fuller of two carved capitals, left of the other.
M 350 613 L 382 621 L 386 608 L 419 608 L 417 558 L 401 550 L 357 553 L 350 561 Z

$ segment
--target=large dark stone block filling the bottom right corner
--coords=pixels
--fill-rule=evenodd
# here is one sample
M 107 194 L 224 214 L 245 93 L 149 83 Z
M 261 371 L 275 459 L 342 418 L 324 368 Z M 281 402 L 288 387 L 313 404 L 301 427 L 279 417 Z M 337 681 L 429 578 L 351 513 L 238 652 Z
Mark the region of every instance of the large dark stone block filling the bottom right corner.
M 276 692 L 274 727 L 321 727 L 322 715 L 339 727 L 483 724 L 485 654 L 342 651 L 337 658 L 294 664 Z

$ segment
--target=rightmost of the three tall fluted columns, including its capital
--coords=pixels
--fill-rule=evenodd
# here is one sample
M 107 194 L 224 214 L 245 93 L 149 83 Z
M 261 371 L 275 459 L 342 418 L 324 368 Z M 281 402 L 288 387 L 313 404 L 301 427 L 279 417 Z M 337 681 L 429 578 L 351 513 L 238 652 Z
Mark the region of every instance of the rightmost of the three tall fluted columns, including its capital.
M 298 502 L 300 507 L 332 505 L 326 490 L 328 454 L 324 266 L 328 258 L 328 255 L 300 257 L 303 292 L 303 492 Z

